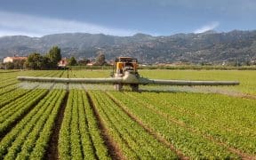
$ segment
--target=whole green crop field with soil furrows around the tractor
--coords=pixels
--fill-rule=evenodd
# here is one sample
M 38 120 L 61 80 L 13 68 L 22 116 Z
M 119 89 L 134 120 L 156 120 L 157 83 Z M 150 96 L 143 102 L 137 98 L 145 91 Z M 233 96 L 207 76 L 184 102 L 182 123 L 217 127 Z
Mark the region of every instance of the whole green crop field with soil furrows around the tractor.
M 16 76 L 111 70 L 2 70 L 0 159 L 256 159 L 256 71 L 140 70 L 152 79 L 238 86 L 20 84 Z

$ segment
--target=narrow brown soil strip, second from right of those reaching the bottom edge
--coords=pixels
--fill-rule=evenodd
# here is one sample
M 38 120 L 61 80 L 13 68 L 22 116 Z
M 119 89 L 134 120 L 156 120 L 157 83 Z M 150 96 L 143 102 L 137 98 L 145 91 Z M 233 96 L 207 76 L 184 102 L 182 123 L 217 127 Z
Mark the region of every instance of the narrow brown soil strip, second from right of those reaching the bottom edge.
M 161 143 L 163 143 L 166 147 L 170 148 L 172 151 L 174 151 L 179 157 L 180 159 L 189 159 L 188 156 L 185 156 L 179 149 L 174 148 L 174 146 L 167 140 L 164 139 L 164 137 L 162 137 L 161 135 L 157 134 L 156 132 L 154 132 L 151 128 L 149 128 L 146 124 L 143 124 L 140 119 L 136 116 L 133 116 L 127 109 L 125 109 L 119 102 L 118 100 L 116 100 L 113 96 L 111 96 L 110 94 L 108 94 L 108 92 L 106 93 L 108 95 L 108 97 L 113 100 L 117 106 L 119 106 L 120 108 L 122 108 L 122 110 L 124 111 L 125 114 L 127 114 L 133 121 L 137 122 L 138 124 L 140 124 L 141 127 L 144 128 L 144 130 L 146 132 L 148 132 L 150 135 L 152 135 L 153 137 L 156 138 L 156 140 L 160 141 Z

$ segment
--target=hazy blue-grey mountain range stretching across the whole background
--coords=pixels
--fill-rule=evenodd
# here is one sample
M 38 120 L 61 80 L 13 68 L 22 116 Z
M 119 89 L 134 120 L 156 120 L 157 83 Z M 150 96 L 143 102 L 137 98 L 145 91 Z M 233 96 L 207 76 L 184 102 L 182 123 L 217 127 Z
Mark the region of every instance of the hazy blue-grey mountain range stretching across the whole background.
M 233 30 L 227 33 L 207 31 L 200 34 L 150 36 L 108 36 L 103 34 L 65 33 L 42 37 L 0 37 L 0 58 L 48 52 L 52 45 L 61 48 L 63 57 L 93 58 L 105 52 L 107 60 L 132 56 L 143 63 L 222 62 L 256 60 L 256 30 Z

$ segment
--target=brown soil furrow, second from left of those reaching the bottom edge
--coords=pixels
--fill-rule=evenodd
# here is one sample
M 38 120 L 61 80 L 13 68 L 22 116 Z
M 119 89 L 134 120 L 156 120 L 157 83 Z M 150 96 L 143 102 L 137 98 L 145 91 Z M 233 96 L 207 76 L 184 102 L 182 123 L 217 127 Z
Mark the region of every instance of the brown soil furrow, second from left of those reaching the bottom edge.
M 102 123 L 102 121 L 100 120 L 100 115 L 97 111 L 97 109 L 95 108 L 93 102 L 92 102 L 92 98 L 90 97 L 90 95 L 88 94 L 88 92 L 86 93 L 86 96 L 89 100 L 89 104 L 92 107 L 93 113 L 97 119 L 98 122 L 98 127 L 100 129 L 100 134 L 101 137 L 104 140 L 105 145 L 108 148 L 108 154 L 109 156 L 111 156 L 112 159 L 126 159 L 121 151 L 120 148 L 118 148 L 118 145 L 116 144 L 115 140 L 113 140 L 111 138 L 111 136 L 108 133 L 108 129 L 106 128 L 106 126 Z

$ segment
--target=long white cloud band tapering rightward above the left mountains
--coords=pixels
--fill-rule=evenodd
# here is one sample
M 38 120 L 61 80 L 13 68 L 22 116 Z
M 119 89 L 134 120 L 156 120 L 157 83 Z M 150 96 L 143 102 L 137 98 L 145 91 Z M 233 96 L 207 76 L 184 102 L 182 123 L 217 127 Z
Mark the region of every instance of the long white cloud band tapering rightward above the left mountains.
M 84 32 L 114 36 L 132 36 L 140 31 L 122 28 L 108 28 L 76 20 L 44 18 L 28 14 L 0 11 L 0 36 L 44 36 L 56 33 Z

